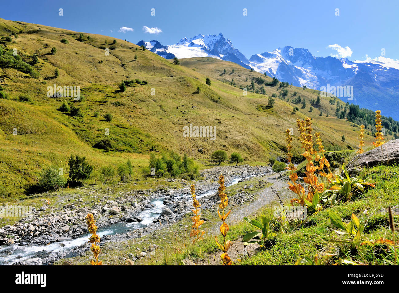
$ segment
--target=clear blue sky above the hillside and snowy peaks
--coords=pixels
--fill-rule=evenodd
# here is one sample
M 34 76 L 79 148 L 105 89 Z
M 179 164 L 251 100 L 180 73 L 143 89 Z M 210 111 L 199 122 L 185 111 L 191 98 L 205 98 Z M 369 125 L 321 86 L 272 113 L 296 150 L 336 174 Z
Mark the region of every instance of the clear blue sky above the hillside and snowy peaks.
M 63 8 L 63 16 L 59 16 Z M 155 16 L 151 9 L 155 8 Z M 247 16 L 243 16 L 243 9 Z M 339 9 L 337 16 L 336 9 Z M 3 1 L 0 17 L 163 45 L 223 33 L 245 56 L 290 45 L 315 56 L 399 59 L 399 1 Z M 145 33 L 143 27 L 156 33 Z M 120 28 L 132 28 L 125 33 Z M 159 32 L 162 30 L 162 32 Z M 332 46 L 330 46 L 332 45 Z M 330 47 L 329 47 L 330 46 Z M 336 49 L 334 49 L 336 48 Z

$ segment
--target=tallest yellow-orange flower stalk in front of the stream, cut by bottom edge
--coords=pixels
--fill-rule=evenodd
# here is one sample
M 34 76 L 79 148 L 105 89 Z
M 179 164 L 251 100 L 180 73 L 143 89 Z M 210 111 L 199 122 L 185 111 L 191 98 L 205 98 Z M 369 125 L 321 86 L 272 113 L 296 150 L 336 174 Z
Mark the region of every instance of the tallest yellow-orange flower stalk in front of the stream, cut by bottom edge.
M 219 218 L 222 221 L 222 224 L 221 224 L 219 230 L 223 236 L 223 245 L 219 243 L 216 236 L 215 236 L 215 240 L 216 240 L 217 246 L 223 251 L 223 254 L 220 256 L 223 265 L 231 265 L 231 258 L 227 254 L 227 250 L 229 250 L 230 246 L 233 245 L 233 242 L 231 242 L 230 240 L 226 241 L 226 235 L 227 235 L 227 231 L 229 231 L 229 225 L 227 225 L 225 223 L 225 220 L 226 220 L 227 216 L 230 214 L 231 210 L 229 210 L 229 212 L 227 212 L 225 214 L 225 208 L 227 208 L 228 200 L 227 200 L 227 195 L 224 192 L 226 190 L 226 187 L 224 185 L 224 177 L 222 174 L 219 176 L 218 183 L 219 183 L 219 188 L 217 189 L 217 194 L 219 195 L 220 203 L 219 203 L 219 207 L 217 209 L 217 213 L 219 214 Z M 221 210 L 221 213 L 220 213 L 220 210 Z

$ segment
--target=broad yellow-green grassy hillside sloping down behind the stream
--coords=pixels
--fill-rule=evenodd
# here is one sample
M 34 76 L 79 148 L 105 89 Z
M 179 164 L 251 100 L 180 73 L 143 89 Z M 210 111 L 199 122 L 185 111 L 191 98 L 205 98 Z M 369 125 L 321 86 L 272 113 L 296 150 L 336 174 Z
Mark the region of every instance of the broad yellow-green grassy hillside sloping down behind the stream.
M 217 149 L 238 151 L 250 162 L 284 157 L 284 130 L 296 130 L 296 119 L 306 116 L 312 117 L 314 129 L 322 132 L 326 149 L 355 149 L 358 145 L 359 127 L 337 119 L 336 106 L 329 104 L 329 98 L 321 98 L 320 106 L 313 106 L 313 112 L 309 112 L 310 100 L 319 93 L 316 90 L 288 86 L 283 100 L 278 97 L 282 89 L 276 85 L 265 86 L 266 94 L 248 92 L 243 96 L 240 85 L 250 84 L 253 77 L 269 82 L 271 78 L 213 58 L 190 58 L 174 65 L 121 39 L 113 44 L 111 37 L 83 33 L 79 39 L 80 34 L 0 19 L 4 54 L 15 48 L 20 61 L 27 64 L 32 64 L 34 54 L 38 57 L 38 63 L 32 64 L 35 74 L 0 67 L 0 85 L 8 94 L 8 99 L 0 99 L 0 180 L 15 194 L 36 182 L 46 165 L 57 164 L 67 173 L 71 154 L 85 155 L 95 169 L 129 158 L 135 176 L 140 174 L 140 167 L 148 165 L 150 150 L 157 154 L 169 150 L 187 153 L 204 165 Z M 11 41 L 6 39 L 9 36 Z M 51 54 L 52 47 L 55 54 Z M 221 75 L 223 69 L 227 72 Z M 205 84 L 206 77 L 211 79 L 211 86 Z M 135 79 L 147 83 L 119 90 L 122 81 Z M 236 86 L 230 84 L 231 79 Z M 47 87 L 53 84 L 79 86 L 84 98 L 47 97 Z M 294 92 L 306 99 L 306 108 L 292 103 Z M 27 94 L 30 100 L 21 100 L 21 94 Z M 277 95 L 275 105 L 268 108 L 267 97 L 272 94 Z M 79 107 L 83 117 L 57 110 L 63 101 Z M 294 106 L 300 111 L 292 113 Z M 112 114 L 111 122 L 103 118 L 106 113 Z M 183 137 L 183 127 L 190 123 L 215 126 L 216 140 Z M 14 128 L 17 135 L 13 135 Z M 109 136 L 105 136 L 106 128 Z M 110 151 L 93 147 L 105 138 L 111 140 Z M 373 141 L 367 130 L 364 140 L 366 146 Z M 294 140 L 293 145 L 298 156 L 299 143 Z M 199 153 L 199 148 L 205 153 Z

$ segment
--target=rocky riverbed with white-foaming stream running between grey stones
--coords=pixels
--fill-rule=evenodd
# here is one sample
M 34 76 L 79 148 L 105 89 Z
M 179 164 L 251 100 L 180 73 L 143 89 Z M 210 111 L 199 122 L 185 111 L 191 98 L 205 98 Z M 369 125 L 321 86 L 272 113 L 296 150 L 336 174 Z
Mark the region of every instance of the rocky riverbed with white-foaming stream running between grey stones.
M 217 178 L 223 173 L 226 186 L 271 173 L 270 167 L 225 166 L 202 171 L 205 179 L 195 183 L 196 194 L 201 198 L 201 208 L 215 208 L 217 201 Z M 170 179 L 171 181 L 176 179 Z M 94 214 L 102 244 L 107 241 L 122 241 L 138 238 L 150 231 L 178 222 L 184 214 L 191 212 L 190 184 L 172 189 L 164 186 L 156 190 L 120 191 L 111 196 L 99 195 L 93 188 L 82 191 L 90 195 L 91 201 L 77 199 L 60 208 L 43 205 L 34 210 L 30 218 L 21 219 L 14 225 L 0 228 L 0 264 L 49 264 L 60 258 L 85 255 L 87 243 L 85 216 Z M 262 187 L 259 181 L 259 187 Z M 233 205 L 243 205 L 253 200 L 245 186 L 234 195 L 229 195 Z

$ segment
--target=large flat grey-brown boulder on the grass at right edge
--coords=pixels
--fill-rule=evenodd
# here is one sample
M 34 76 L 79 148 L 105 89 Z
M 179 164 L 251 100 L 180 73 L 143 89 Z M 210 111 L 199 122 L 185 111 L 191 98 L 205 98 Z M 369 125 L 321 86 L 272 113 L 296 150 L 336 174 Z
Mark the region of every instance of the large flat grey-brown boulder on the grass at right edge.
M 346 166 L 348 173 L 360 170 L 360 167 L 373 167 L 378 164 L 393 165 L 399 163 L 399 140 L 390 140 L 365 153 L 356 155 Z

